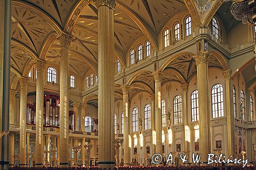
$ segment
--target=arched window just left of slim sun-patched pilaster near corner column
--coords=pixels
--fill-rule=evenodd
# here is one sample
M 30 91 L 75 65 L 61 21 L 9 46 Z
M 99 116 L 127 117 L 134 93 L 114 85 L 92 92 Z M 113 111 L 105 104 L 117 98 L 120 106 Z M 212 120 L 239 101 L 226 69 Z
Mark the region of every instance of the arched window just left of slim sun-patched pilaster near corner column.
M 182 100 L 180 95 L 176 95 L 174 104 L 174 124 L 182 124 Z

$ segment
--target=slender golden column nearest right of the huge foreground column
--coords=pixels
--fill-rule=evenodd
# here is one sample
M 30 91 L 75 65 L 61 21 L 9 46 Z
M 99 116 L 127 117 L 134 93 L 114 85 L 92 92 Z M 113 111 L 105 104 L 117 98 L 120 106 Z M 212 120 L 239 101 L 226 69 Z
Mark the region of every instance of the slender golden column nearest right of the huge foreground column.
M 123 165 L 129 166 L 131 164 L 130 160 L 130 148 L 129 148 L 129 134 L 130 134 L 130 124 L 129 124 L 129 90 L 130 87 L 123 85 Z

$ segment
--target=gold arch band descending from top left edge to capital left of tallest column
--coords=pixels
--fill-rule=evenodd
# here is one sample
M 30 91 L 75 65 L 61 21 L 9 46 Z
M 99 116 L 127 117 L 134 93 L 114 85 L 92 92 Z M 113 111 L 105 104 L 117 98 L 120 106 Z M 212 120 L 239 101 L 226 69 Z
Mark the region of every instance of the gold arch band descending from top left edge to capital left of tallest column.
M 56 23 L 48 14 L 39 10 L 39 8 L 32 7 L 28 3 L 25 3 L 24 1 L 20 2 L 20 1 L 17 1 L 17 0 L 12 1 L 12 6 L 19 7 L 19 8 L 24 8 L 24 9 L 27 9 L 31 12 L 34 12 L 34 13 L 38 14 L 38 16 L 40 16 L 47 23 L 49 23 L 49 25 L 58 33 L 58 35 L 61 34 L 61 32 L 62 32 L 61 27 L 58 25 L 58 23 Z

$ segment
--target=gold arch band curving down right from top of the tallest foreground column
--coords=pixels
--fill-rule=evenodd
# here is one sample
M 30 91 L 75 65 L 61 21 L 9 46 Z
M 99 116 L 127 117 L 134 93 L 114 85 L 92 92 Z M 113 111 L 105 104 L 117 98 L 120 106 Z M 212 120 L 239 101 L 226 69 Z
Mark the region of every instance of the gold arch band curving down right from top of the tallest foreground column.
M 150 41 L 150 44 L 151 44 L 153 50 L 157 51 L 157 45 L 156 45 L 155 40 L 153 39 L 153 36 L 149 32 L 149 30 L 147 30 L 147 28 L 143 25 L 143 23 L 138 19 L 138 17 L 132 11 L 130 11 L 127 7 L 120 4 L 120 2 L 118 2 L 116 4 L 116 7 L 119 8 L 120 10 L 122 10 L 125 14 L 127 14 L 137 24 L 137 26 L 140 28 L 140 30 L 143 32 L 143 34 L 148 39 L 148 41 Z

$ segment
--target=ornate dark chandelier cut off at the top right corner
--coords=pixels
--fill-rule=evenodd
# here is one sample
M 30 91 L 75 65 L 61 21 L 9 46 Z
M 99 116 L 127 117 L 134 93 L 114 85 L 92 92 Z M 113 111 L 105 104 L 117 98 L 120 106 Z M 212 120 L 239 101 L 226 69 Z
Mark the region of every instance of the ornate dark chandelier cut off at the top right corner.
M 244 24 L 256 26 L 255 3 L 254 0 L 231 0 L 233 4 L 230 12 L 237 20 L 241 20 Z

